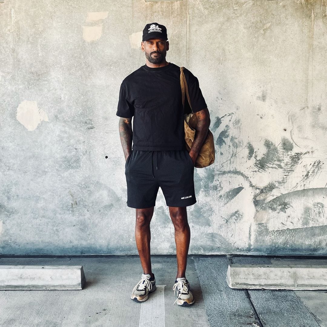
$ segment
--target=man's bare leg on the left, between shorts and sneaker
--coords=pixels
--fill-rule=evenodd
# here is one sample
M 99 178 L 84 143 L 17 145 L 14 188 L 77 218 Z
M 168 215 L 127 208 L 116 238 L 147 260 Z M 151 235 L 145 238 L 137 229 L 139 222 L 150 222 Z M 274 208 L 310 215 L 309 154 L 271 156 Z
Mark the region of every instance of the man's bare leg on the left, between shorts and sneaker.
M 153 277 L 150 257 L 150 222 L 153 216 L 154 207 L 136 209 L 135 240 L 139 252 L 141 265 L 145 274 Z

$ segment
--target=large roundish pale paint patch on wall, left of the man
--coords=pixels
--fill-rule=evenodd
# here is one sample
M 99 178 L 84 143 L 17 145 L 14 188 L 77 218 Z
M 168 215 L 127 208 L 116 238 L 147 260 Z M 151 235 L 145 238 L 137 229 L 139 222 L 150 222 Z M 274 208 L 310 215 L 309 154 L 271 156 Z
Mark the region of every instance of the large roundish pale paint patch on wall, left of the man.
M 48 115 L 38 107 L 37 101 L 28 100 L 19 104 L 16 118 L 29 131 L 36 129 L 43 120 L 49 121 Z

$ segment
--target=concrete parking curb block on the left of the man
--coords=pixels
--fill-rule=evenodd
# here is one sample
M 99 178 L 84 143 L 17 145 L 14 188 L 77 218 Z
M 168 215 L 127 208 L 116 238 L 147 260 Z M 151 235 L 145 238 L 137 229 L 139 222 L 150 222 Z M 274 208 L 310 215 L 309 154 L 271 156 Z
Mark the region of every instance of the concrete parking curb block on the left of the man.
M 0 290 L 72 290 L 85 282 L 82 266 L 0 266 Z

